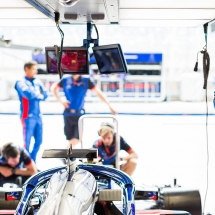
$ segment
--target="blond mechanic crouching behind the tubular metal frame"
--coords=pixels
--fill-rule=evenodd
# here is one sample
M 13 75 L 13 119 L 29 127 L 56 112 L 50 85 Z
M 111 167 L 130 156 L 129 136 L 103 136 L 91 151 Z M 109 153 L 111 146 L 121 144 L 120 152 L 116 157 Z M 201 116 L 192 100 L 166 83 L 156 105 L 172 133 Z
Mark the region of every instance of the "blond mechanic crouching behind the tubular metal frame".
M 104 122 L 101 124 L 98 134 L 101 136 L 101 139 L 95 141 L 93 148 L 98 149 L 98 156 L 103 160 L 102 163 L 104 165 L 113 165 L 115 167 L 116 133 L 114 132 L 114 126 L 108 122 Z M 124 150 L 128 153 L 128 156 L 122 158 L 124 164 L 121 165 L 120 169 L 131 176 L 136 169 L 136 159 L 138 155 L 128 143 L 126 143 L 123 137 L 120 137 L 120 150 Z

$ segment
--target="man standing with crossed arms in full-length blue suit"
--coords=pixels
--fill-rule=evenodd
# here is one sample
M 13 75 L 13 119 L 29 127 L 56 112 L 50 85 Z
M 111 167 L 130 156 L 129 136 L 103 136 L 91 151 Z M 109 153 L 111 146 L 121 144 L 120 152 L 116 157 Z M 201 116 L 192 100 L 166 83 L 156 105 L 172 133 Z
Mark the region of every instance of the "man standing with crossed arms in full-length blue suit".
M 40 101 L 47 98 L 47 92 L 37 74 L 37 63 L 30 61 L 24 65 L 25 77 L 15 84 L 21 109 L 23 125 L 24 147 L 36 162 L 37 153 L 42 144 L 43 126 L 40 112 Z M 34 137 L 33 150 L 30 152 L 31 138 Z

